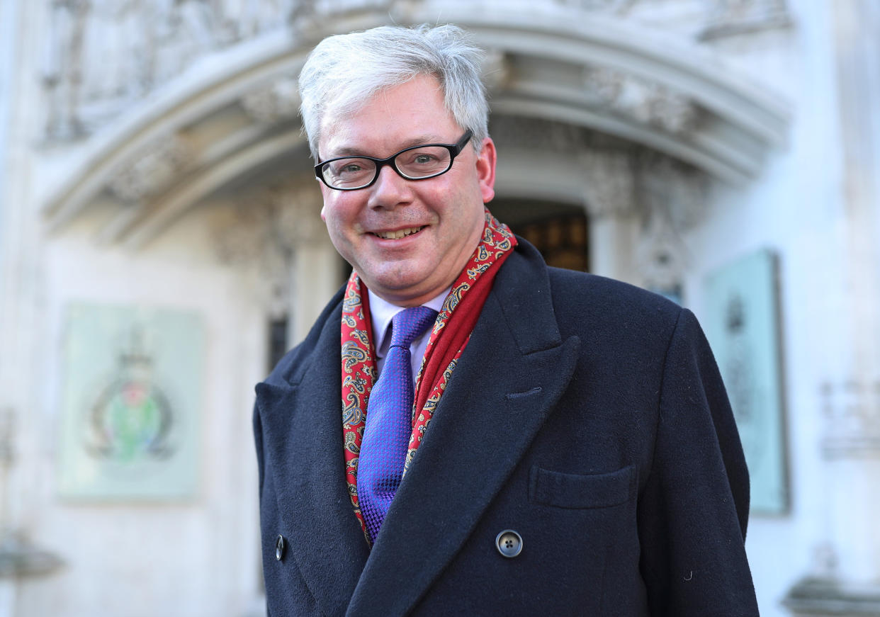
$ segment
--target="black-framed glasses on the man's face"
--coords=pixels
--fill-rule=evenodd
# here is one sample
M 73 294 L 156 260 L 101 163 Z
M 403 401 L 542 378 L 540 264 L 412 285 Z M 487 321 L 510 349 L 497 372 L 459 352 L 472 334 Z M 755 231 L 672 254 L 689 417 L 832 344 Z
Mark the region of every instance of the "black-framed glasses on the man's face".
M 388 158 L 340 157 L 315 165 L 315 177 L 337 191 L 370 187 L 384 165 L 390 165 L 401 178 L 428 180 L 452 168 L 452 161 L 473 137 L 468 129 L 457 143 L 425 143 L 404 148 Z

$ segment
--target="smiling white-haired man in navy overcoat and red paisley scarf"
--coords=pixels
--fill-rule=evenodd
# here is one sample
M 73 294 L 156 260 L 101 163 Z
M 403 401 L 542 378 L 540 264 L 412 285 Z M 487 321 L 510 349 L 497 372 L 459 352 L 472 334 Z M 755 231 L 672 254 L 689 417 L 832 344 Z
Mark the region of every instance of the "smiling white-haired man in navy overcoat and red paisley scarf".
M 693 315 L 547 268 L 494 196 L 480 51 L 334 36 L 300 77 L 354 271 L 265 383 L 273 615 L 757 615 L 748 476 Z

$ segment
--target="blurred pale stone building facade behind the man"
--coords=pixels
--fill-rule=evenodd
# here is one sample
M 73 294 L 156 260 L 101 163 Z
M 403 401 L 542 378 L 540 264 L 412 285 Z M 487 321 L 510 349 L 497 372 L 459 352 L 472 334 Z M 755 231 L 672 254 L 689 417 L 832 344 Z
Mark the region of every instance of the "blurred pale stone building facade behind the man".
M 876 0 L 0 0 L 0 615 L 264 613 L 253 385 L 347 274 L 297 75 L 422 22 L 495 215 L 700 318 L 761 613 L 880 615 Z

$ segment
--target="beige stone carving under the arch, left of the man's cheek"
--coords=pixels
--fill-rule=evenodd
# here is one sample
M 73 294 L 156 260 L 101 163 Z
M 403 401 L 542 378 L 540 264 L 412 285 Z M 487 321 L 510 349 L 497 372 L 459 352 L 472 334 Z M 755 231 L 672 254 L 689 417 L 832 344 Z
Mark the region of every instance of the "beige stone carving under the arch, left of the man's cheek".
M 317 242 L 326 234 L 320 208 L 316 183 L 292 180 L 238 195 L 231 217 L 212 230 L 221 263 L 255 270 L 249 279 L 273 318 L 290 310 L 297 246 Z

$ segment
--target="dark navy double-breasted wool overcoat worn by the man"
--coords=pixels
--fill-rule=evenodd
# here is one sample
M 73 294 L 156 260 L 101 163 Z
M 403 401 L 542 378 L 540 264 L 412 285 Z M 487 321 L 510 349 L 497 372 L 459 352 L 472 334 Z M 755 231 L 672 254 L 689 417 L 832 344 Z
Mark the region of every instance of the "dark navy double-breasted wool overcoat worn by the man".
M 758 614 L 743 451 L 691 312 L 521 241 L 372 550 L 345 482 L 340 320 L 341 292 L 257 386 L 273 617 Z

